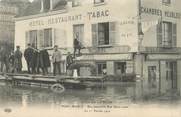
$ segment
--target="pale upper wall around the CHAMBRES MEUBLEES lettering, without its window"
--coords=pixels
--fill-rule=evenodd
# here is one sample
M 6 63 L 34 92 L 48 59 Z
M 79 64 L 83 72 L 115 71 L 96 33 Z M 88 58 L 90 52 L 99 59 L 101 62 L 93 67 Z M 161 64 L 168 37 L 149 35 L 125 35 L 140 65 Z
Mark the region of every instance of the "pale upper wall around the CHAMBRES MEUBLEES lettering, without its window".
M 160 22 L 160 21 L 168 21 L 177 23 L 177 46 L 181 47 L 180 42 L 180 33 L 181 25 L 180 25 L 180 18 L 174 18 L 174 17 L 168 17 L 165 16 L 165 12 L 174 12 L 174 13 L 181 13 L 181 9 L 179 4 L 181 3 L 180 0 L 172 0 L 171 4 L 164 5 L 162 4 L 162 0 L 156 0 L 153 2 L 153 0 L 141 0 L 142 6 L 144 8 L 151 8 L 151 9 L 157 9 L 162 11 L 162 15 L 159 15 L 160 13 L 143 13 L 142 12 L 142 21 L 143 22 Z M 160 12 L 159 11 L 159 12 Z M 150 28 L 148 28 L 150 27 Z M 157 32 L 156 32 L 156 24 L 153 24 L 151 26 L 147 25 L 147 30 L 144 30 L 144 40 L 143 45 L 146 47 L 157 47 Z

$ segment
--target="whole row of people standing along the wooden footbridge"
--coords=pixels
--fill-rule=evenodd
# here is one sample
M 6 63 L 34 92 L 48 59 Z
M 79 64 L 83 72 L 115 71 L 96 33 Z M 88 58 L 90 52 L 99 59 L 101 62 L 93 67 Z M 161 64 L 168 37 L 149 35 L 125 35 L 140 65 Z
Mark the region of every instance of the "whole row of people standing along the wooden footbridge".
M 24 54 L 20 51 L 20 46 L 16 47 L 15 52 L 8 54 L 6 48 L 1 48 L 0 50 L 0 62 L 1 62 L 1 72 L 6 67 L 6 72 L 21 73 L 22 72 L 22 57 L 24 56 L 27 63 L 27 72 L 29 74 L 39 74 L 42 71 L 43 75 L 48 74 L 48 68 L 51 67 L 51 61 L 49 53 L 46 49 L 35 49 L 28 44 L 24 51 Z M 53 64 L 53 75 L 61 75 L 61 61 L 62 53 L 58 49 L 58 46 L 54 46 L 54 51 L 52 54 L 52 64 Z M 66 67 L 69 69 L 70 65 L 73 63 L 73 56 L 68 52 L 66 57 Z

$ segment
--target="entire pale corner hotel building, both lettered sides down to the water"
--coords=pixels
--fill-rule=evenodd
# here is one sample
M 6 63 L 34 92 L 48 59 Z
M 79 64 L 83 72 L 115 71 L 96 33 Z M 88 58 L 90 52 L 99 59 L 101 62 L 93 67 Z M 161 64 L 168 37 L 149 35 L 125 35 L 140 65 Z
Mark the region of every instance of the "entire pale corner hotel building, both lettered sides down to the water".
M 179 0 L 35 0 L 27 14 L 16 19 L 15 45 L 24 51 L 31 43 L 49 49 L 50 55 L 58 45 L 65 72 L 66 53 L 73 53 L 78 35 L 85 48 L 76 61 L 94 64 L 97 75 L 105 69 L 108 75 L 136 74 L 147 92 L 180 91 L 179 4 Z M 88 72 L 82 69 L 82 75 Z

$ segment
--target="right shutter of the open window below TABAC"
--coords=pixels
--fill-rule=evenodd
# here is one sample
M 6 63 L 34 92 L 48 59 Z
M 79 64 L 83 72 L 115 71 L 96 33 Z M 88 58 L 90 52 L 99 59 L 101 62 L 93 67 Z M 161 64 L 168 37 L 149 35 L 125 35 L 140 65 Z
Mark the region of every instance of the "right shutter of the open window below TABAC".
M 109 42 L 114 45 L 116 41 L 116 22 L 109 23 Z

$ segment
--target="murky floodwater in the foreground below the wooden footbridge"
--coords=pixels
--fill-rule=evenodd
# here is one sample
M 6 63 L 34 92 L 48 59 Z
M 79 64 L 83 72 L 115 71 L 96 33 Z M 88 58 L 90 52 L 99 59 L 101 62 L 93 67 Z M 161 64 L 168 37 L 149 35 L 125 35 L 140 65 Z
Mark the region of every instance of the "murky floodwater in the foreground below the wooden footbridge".
M 63 93 L 54 93 L 50 89 L 15 87 L 0 83 L 0 108 L 59 108 L 62 105 L 117 105 L 124 108 L 132 105 L 181 105 L 175 100 L 142 100 L 135 83 L 113 83 L 97 89 L 66 89 Z M 179 106 L 180 107 L 180 106 Z

